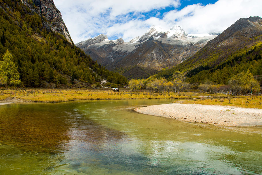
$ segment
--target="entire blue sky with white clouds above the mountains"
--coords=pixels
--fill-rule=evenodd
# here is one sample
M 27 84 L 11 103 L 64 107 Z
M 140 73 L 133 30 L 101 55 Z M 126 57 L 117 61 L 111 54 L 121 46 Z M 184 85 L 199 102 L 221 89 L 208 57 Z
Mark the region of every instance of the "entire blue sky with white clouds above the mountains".
M 155 25 L 187 33 L 222 32 L 239 18 L 262 17 L 261 0 L 54 0 L 74 43 L 100 34 L 125 42 Z

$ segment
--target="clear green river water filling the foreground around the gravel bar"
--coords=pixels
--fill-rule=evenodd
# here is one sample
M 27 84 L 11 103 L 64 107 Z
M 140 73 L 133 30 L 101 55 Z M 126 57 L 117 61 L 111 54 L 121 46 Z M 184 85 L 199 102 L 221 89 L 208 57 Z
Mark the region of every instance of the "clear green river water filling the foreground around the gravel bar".
M 132 110 L 170 102 L 0 106 L 0 174 L 262 174 L 262 127 L 185 123 Z

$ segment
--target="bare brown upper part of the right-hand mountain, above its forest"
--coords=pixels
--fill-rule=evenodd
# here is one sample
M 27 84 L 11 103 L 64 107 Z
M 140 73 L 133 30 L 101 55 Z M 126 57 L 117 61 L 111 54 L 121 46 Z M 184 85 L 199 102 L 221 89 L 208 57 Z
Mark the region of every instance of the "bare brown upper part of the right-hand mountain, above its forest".
M 217 65 L 225 61 L 231 53 L 249 48 L 261 41 L 260 35 L 262 35 L 262 18 L 240 18 L 179 67 Z

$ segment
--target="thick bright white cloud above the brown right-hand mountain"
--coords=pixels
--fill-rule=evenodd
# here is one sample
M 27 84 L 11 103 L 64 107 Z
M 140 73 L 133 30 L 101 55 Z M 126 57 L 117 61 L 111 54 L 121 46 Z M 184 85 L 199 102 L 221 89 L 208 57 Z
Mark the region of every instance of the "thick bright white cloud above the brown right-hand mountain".
M 239 18 L 262 16 L 261 5 L 261 0 L 219 0 L 215 4 L 194 4 L 181 11 L 170 11 L 163 20 L 180 25 L 188 33 L 222 32 Z

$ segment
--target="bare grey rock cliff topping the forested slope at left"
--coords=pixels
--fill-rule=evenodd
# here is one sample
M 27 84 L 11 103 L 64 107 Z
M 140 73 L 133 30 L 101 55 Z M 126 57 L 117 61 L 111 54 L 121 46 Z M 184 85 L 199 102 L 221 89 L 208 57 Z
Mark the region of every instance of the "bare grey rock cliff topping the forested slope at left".
M 43 15 L 46 21 L 43 25 L 47 30 L 55 31 L 64 35 L 72 44 L 73 41 L 69 35 L 67 27 L 64 24 L 60 11 L 56 8 L 53 0 L 21 0 L 33 12 Z

